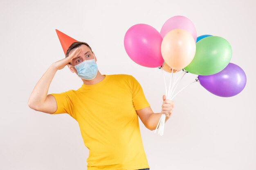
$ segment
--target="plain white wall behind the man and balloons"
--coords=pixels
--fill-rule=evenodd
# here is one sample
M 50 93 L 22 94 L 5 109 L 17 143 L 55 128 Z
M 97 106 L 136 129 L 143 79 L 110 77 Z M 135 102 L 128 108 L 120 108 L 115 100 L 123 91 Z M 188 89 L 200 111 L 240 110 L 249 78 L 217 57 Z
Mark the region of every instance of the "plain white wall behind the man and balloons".
M 256 2 L 254 0 L 13 0 L 0 1 L 0 169 L 85 170 L 88 149 L 67 114 L 30 109 L 27 100 L 49 65 L 64 57 L 55 29 L 92 46 L 101 74 L 133 75 L 153 111 L 161 111 L 158 68 L 134 63 L 124 50 L 130 26 L 160 31 L 168 18 L 188 17 L 198 36 L 218 35 L 233 48 L 232 63 L 247 75 L 243 92 L 221 98 L 194 83 L 175 98 L 164 136 L 140 122 L 150 170 L 256 169 Z M 184 77 L 180 87 L 193 81 Z M 78 89 L 80 78 L 59 70 L 49 93 Z

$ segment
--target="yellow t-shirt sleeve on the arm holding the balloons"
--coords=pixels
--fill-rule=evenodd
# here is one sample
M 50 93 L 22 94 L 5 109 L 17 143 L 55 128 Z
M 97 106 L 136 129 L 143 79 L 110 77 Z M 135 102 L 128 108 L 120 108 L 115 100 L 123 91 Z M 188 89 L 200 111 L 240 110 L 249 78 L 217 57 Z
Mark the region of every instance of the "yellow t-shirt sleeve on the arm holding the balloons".
M 144 95 L 141 85 L 133 76 L 131 76 L 131 87 L 132 87 L 132 102 L 135 110 L 149 107 L 150 105 Z

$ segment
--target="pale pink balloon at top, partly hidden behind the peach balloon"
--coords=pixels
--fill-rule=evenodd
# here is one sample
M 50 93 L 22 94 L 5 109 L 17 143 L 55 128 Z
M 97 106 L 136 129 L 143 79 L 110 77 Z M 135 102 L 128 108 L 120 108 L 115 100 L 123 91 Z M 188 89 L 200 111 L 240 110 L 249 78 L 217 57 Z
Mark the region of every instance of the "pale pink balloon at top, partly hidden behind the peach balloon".
M 160 31 L 161 36 L 164 38 L 164 36 L 169 32 L 174 29 L 184 29 L 186 31 L 189 31 L 191 35 L 194 37 L 195 42 L 196 42 L 196 30 L 193 22 L 189 20 L 189 18 L 184 17 L 184 16 L 174 16 L 168 19 L 164 25 L 162 26 L 162 29 Z

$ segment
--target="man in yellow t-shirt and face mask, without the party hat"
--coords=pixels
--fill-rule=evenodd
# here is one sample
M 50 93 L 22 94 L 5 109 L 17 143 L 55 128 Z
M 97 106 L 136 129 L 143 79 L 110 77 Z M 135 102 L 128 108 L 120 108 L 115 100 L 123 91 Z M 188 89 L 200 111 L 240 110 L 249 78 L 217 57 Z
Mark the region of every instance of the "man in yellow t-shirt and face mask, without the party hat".
M 97 58 L 84 42 L 74 42 L 65 59 L 52 63 L 28 101 L 31 109 L 50 114 L 68 113 L 78 123 L 89 149 L 88 170 L 149 170 L 138 116 L 154 130 L 161 115 L 170 118 L 173 102 L 163 96 L 161 113 L 154 113 L 141 85 L 131 75 L 101 74 Z M 68 66 L 83 81 L 77 90 L 48 94 L 57 70 Z

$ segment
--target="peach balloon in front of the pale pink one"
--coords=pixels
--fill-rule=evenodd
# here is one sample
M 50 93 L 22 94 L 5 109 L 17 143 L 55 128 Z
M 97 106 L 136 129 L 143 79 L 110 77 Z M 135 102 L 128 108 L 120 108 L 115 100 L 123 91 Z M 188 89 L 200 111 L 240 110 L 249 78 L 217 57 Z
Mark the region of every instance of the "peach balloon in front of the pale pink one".
M 175 70 L 182 70 L 195 56 L 193 36 L 184 29 L 174 29 L 164 36 L 161 45 L 164 61 Z

